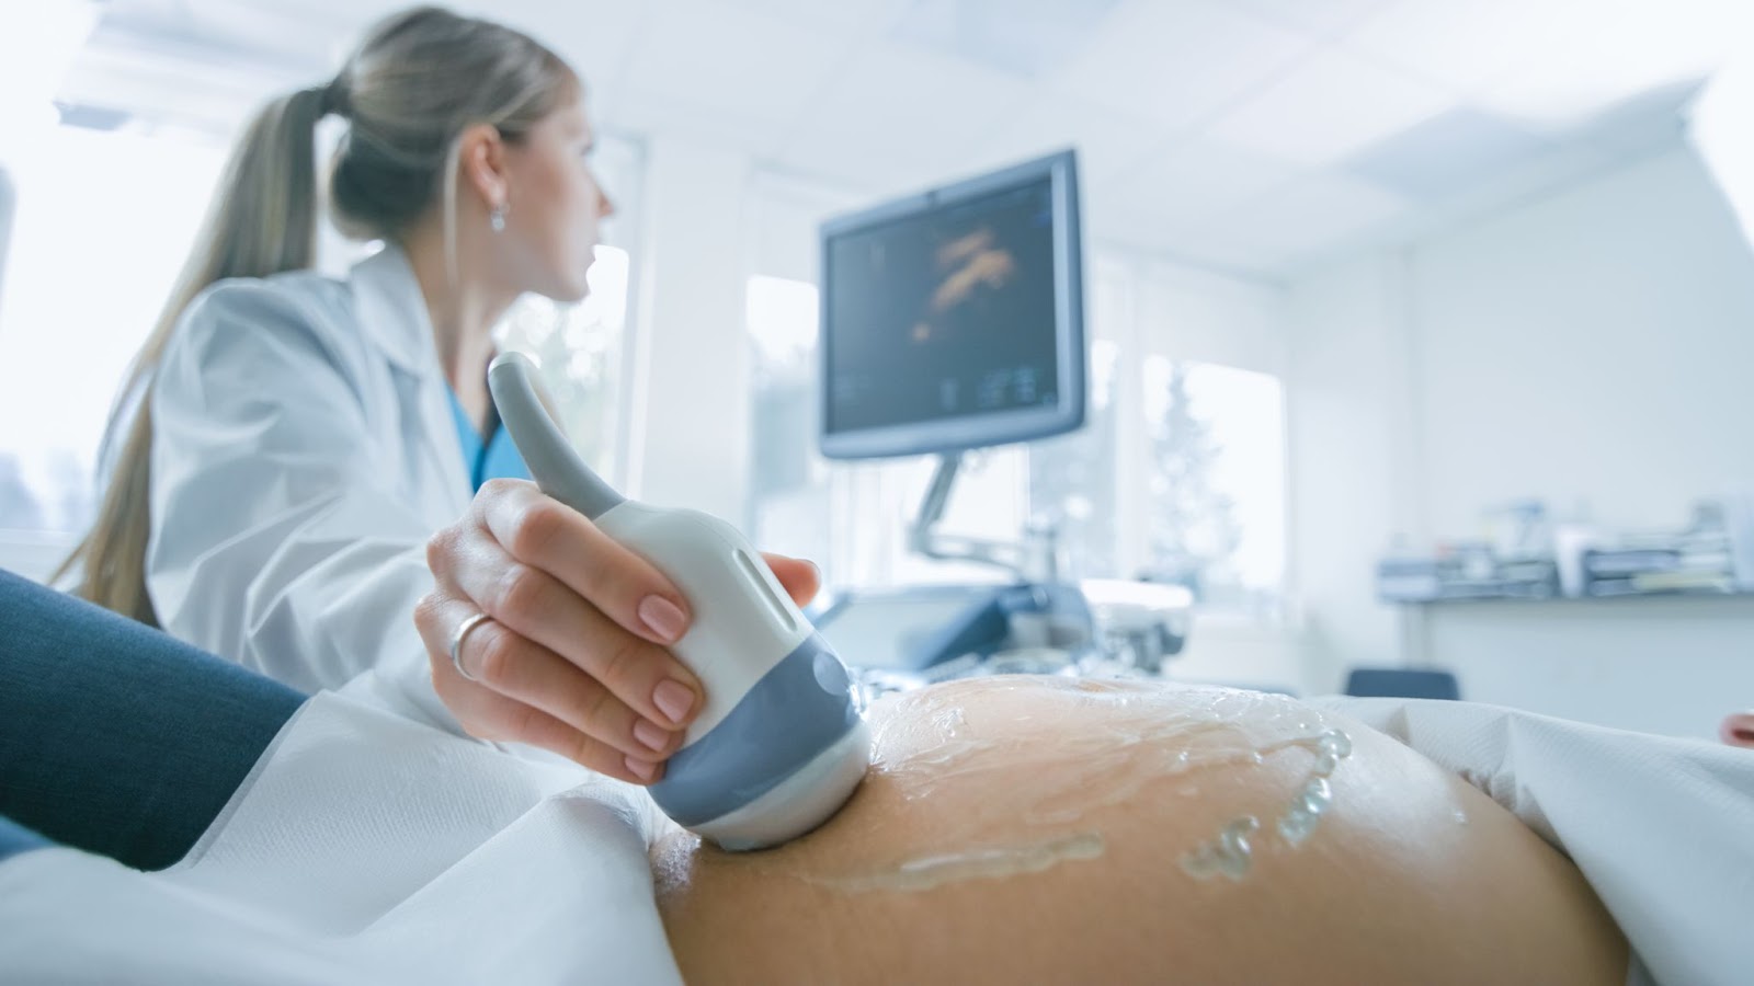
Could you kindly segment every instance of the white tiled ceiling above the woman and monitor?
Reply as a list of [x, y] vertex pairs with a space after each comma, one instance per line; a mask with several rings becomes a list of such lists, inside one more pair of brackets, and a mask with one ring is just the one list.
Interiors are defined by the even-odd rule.
[[[230, 132], [384, 0], [107, 0], [88, 121]], [[889, 195], [1075, 144], [1089, 235], [1279, 279], [1672, 147], [1747, 0], [500, 0], [600, 126]]]

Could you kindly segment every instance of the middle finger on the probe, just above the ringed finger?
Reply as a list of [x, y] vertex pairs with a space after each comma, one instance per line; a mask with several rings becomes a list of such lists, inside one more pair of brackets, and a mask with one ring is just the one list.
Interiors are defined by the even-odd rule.
[[670, 651], [628, 633], [554, 575], [517, 561], [488, 532], [463, 530], [453, 556], [460, 563], [440, 584], [567, 658], [656, 726], [686, 726], [700, 711], [700, 681]]

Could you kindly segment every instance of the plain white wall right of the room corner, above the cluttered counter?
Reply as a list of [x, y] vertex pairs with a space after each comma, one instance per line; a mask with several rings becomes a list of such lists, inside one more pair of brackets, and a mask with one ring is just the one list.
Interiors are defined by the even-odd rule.
[[1437, 530], [1528, 493], [1673, 525], [1754, 477], [1754, 258], [1689, 153], [1428, 244], [1414, 297]]

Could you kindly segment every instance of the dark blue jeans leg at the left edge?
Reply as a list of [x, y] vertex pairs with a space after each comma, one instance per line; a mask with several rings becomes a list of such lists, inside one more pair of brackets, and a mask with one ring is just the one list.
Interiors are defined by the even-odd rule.
[[0, 860], [181, 860], [305, 697], [0, 570]]

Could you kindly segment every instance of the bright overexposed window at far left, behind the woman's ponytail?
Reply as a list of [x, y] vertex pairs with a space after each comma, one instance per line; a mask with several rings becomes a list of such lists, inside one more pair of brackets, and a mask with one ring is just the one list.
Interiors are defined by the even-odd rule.
[[18, 214], [0, 295], [0, 528], [82, 530], [128, 360], [158, 319], [226, 149], [46, 128], [9, 158]]

